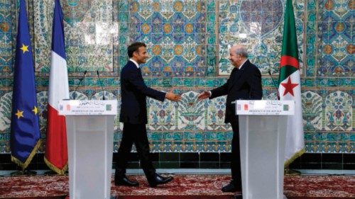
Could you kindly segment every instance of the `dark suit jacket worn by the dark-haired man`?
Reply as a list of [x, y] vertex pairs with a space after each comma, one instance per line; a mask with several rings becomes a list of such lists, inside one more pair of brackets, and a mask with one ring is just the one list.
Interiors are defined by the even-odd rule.
[[121, 70], [121, 123], [146, 124], [146, 96], [164, 101], [165, 93], [149, 88], [143, 81], [141, 69], [129, 61]]

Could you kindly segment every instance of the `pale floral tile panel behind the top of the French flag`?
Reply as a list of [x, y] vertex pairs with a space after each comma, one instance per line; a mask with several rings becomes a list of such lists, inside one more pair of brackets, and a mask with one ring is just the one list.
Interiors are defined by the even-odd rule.
[[[113, 1], [70, 0], [62, 4], [68, 72], [113, 71], [113, 40], [118, 23], [112, 18]], [[50, 69], [54, 1], [33, 0], [35, 71]]]

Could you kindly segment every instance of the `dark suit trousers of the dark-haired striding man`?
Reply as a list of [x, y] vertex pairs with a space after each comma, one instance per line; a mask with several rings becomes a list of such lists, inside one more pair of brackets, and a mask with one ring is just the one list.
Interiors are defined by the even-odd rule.
[[124, 176], [126, 174], [127, 162], [133, 144], [136, 146], [144, 174], [146, 174], [147, 178], [153, 178], [155, 169], [149, 158], [149, 142], [145, 124], [124, 123], [122, 140], [116, 158], [116, 175]]

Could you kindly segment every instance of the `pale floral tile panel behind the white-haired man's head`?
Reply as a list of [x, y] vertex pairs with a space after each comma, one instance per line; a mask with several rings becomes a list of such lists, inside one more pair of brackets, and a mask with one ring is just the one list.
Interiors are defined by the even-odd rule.
[[[263, 74], [278, 72], [283, 38], [284, 1], [217, 1], [219, 4], [219, 75], [231, 72], [229, 48], [242, 44], [249, 49], [249, 59]], [[295, 23], [302, 33], [305, 25], [305, 1], [295, 1]], [[302, 74], [305, 37], [297, 34]]]

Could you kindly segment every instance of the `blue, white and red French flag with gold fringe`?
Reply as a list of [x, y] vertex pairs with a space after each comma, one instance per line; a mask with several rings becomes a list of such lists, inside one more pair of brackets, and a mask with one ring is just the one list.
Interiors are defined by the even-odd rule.
[[50, 169], [58, 174], [64, 174], [67, 171], [67, 130], [65, 116], [58, 115], [58, 103], [69, 98], [69, 85], [63, 15], [59, 0], [55, 0], [54, 6], [51, 56], [44, 160]]

